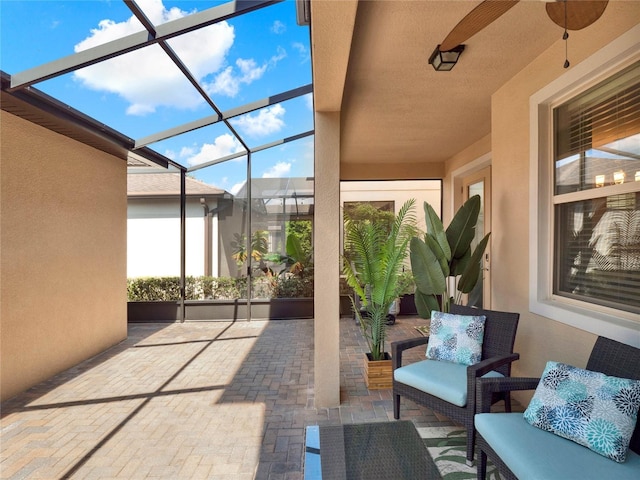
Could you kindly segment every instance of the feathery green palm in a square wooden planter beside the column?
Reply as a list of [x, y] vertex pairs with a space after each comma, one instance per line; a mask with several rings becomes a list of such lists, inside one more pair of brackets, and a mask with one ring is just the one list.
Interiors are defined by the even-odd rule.
[[391, 386], [391, 361], [384, 351], [387, 314], [399, 296], [400, 273], [409, 253], [409, 242], [416, 232], [414, 205], [414, 199], [405, 202], [390, 226], [353, 221], [345, 215], [345, 250], [351, 254], [344, 259], [343, 274], [364, 307], [361, 311], [354, 302], [353, 309], [369, 347], [365, 372], [373, 373], [369, 362], [388, 363], [386, 369], [383, 367], [385, 373], [376, 374], [388, 379], [372, 382], [367, 377], [369, 388]]

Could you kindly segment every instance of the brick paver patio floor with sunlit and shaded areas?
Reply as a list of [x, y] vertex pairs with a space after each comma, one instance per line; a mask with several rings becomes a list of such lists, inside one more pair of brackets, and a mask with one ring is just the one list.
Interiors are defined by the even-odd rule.
[[[390, 340], [423, 320], [400, 317]], [[313, 320], [133, 324], [121, 344], [1, 406], [3, 479], [302, 479], [307, 425], [393, 419], [340, 320], [341, 406], [313, 402]], [[412, 355], [422, 357], [421, 349]], [[402, 418], [450, 425], [408, 400]]]

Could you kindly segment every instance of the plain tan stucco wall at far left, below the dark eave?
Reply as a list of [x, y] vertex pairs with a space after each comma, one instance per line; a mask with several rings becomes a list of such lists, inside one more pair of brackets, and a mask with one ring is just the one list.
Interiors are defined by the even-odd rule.
[[1, 113], [5, 400], [127, 335], [126, 162]]

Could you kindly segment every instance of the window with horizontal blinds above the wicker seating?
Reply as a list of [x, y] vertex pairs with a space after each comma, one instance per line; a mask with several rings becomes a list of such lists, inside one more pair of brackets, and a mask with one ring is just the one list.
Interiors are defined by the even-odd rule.
[[553, 293], [640, 313], [640, 63], [554, 109]]

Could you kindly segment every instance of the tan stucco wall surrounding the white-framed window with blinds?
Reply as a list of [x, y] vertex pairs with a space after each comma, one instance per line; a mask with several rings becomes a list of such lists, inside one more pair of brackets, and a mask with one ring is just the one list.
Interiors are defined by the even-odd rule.
[[[593, 26], [572, 32], [572, 66], [638, 23], [640, 2], [610, 2]], [[562, 75], [564, 42], [505, 84], [492, 98], [492, 308], [521, 314], [514, 374], [540, 375], [547, 360], [586, 364], [595, 335], [529, 312], [529, 98]]]

